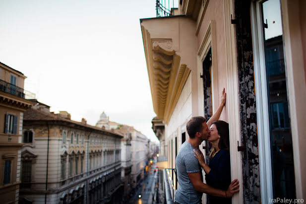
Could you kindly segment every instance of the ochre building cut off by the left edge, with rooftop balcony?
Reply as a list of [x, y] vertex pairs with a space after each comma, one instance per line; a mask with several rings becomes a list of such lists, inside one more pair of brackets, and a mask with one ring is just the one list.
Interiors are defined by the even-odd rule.
[[18, 203], [23, 113], [33, 103], [25, 99], [26, 76], [0, 63], [0, 198]]

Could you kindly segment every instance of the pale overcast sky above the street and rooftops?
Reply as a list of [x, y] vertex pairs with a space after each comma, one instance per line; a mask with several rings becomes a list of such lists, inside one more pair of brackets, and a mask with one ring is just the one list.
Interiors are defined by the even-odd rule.
[[133, 126], [158, 141], [140, 18], [155, 0], [0, 0], [0, 62], [51, 111]]

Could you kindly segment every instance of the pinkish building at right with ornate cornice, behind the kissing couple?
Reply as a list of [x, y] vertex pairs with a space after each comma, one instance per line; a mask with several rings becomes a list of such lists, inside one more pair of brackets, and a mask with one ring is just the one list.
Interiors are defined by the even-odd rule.
[[240, 180], [232, 202], [305, 199], [306, 1], [156, 2], [157, 17], [140, 24], [168, 168], [188, 138], [186, 122], [209, 119], [225, 87], [220, 119], [230, 125], [231, 176]]

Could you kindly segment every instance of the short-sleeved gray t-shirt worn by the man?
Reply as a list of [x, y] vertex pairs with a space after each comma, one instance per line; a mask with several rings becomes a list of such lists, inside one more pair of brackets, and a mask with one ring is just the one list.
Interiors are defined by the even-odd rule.
[[[179, 188], [175, 196], [175, 201], [180, 204], [199, 204], [201, 203], [203, 195], [203, 193], [195, 191], [188, 176], [188, 173], [200, 172], [201, 181], [203, 182], [201, 166], [194, 156], [193, 149], [195, 148], [189, 142], [185, 141], [176, 158]], [[195, 150], [199, 152], [198, 149]]]

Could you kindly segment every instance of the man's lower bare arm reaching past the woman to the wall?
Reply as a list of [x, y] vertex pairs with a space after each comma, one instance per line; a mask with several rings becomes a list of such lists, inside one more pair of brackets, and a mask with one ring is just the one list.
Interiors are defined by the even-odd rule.
[[189, 179], [190, 179], [194, 189], [198, 192], [209, 194], [211, 196], [219, 196], [219, 197], [225, 197], [225, 198], [230, 198], [235, 193], [239, 192], [239, 181], [237, 179], [235, 179], [230, 184], [227, 191], [223, 191], [223, 190], [215, 189], [211, 186], [208, 186], [207, 184], [204, 184], [201, 181], [200, 172], [188, 173], [188, 176], [189, 176]]

